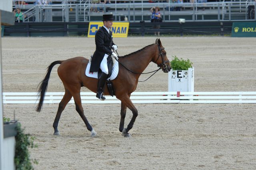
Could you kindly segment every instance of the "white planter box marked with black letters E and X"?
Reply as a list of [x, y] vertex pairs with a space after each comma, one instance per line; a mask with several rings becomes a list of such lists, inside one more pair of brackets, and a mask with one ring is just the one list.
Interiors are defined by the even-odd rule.
[[194, 92], [194, 67], [168, 73], [169, 92]]

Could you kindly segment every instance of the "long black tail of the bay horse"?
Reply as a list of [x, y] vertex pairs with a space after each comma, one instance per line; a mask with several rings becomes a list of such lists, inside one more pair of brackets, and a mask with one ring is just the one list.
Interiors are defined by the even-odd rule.
[[46, 72], [46, 75], [44, 77], [44, 80], [42, 80], [40, 82], [40, 84], [38, 85], [39, 87], [39, 90], [38, 90], [38, 97], [40, 96], [40, 100], [39, 100], [39, 103], [36, 107], [36, 111], [37, 112], [40, 112], [41, 111], [41, 108], [42, 108], [42, 105], [43, 105], [43, 102], [44, 102], [44, 96], [45, 96], [45, 92], [47, 90], [47, 86], [48, 86], [48, 81], [49, 81], [49, 78], [50, 78], [50, 74], [51, 74], [51, 71], [52, 71], [52, 68], [56, 65], [56, 64], [61, 64], [62, 61], [55, 61], [55, 62], [52, 62], [52, 64], [50, 64], [48, 66], [48, 70]]

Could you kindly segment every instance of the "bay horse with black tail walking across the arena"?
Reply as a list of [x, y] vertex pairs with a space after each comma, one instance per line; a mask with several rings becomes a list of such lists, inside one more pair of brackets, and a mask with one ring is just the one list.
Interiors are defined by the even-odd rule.
[[[91, 132], [91, 136], [96, 136], [95, 130], [89, 124], [86, 116], [84, 115], [84, 109], [82, 107], [80, 97], [80, 89], [83, 86], [92, 92], [96, 92], [97, 90], [98, 79], [90, 78], [85, 75], [85, 69], [88, 62], [89, 60], [84, 57], [75, 57], [63, 61], [54, 61], [48, 66], [48, 70], [44, 79], [38, 85], [38, 97], [40, 97], [40, 100], [36, 107], [36, 111], [40, 112], [42, 109], [51, 70], [56, 64], [60, 64], [57, 72], [58, 76], [63, 82], [65, 94], [59, 103], [58, 111], [53, 123], [54, 135], [60, 134], [58, 131], [58, 122], [60, 120], [61, 113], [73, 96], [76, 105], [76, 111], [84, 121], [86, 128]], [[154, 44], [145, 46], [136, 52], [132, 52], [128, 55], [119, 57], [118, 62], [119, 72], [117, 77], [112, 80], [112, 86], [114, 88], [114, 94], [116, 95], [116, 98], [121, 100], [121, 120], [119, 131], [122, 132], [122, 136], [131, 137], [128, 132], [130, 129], [132, 129], [136, 117], [138, 116], [138, 110], [130, 100], [130, 96], [131, 93], [136, 90], [140, 73], [146, 69], [150, 62], [156, 63], [158, 67], [160, 67], [165, 73], [168, 73], [171, 70], [171, 66], [160, 39], [156, 39]], [[109, 95], [107, 86], [104, 88], [105, 95]], [[127, 128], [124, 128], [126, 108], [129, 108], [132, 111], [133, 116]]]

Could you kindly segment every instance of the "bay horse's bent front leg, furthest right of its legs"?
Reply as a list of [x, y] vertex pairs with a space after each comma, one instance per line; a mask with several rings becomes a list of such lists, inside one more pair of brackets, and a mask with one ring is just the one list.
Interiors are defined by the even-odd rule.
[[134, 124], [134, 122], [136, 120], [136, 117], [138, 116], [138, 110], [135, 108], [135, 106], [132, 103], [132, 100], [130, 100], [129, 97], [124, 98], [121, 101], [122, 101], [123, 104], [125, 104], [132, 111], [132, 119], [131, 119], [130, 123], [128, 124], [127, 128], [123, 129], [122, 135], [124, 137], [131, 137], [131, 135], [128, 132], [133, 127], [133, 124]]

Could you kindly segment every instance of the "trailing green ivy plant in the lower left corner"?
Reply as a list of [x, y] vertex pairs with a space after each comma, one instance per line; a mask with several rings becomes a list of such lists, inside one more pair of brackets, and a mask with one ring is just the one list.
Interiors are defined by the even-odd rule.
[[[28, 148], [37, 147], [34, 145], [34, 137], [30, 134], [24, 134], [24, 129], [21, 128], [21, 125], [18, 124], [16, 127], [17, 135], [16, 146], [15, 146], [15, 158], [14, 162], [16, 165], [16, 170], [33, 170], [32, 160], [30, 159], [30, 153]], [[33, 160], [34, 164], [38, 164], [36, 160]]]

